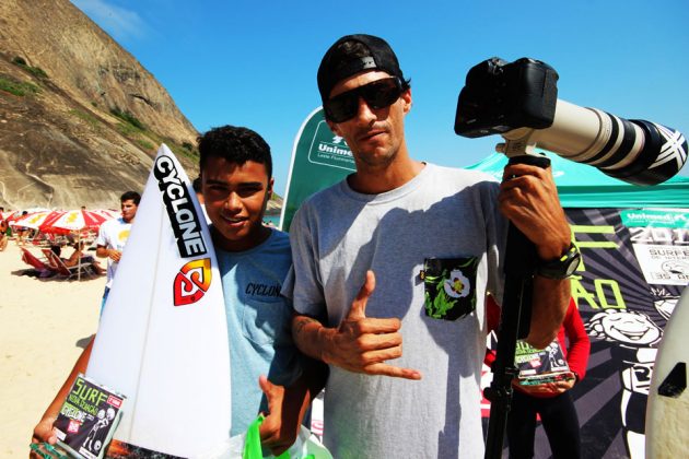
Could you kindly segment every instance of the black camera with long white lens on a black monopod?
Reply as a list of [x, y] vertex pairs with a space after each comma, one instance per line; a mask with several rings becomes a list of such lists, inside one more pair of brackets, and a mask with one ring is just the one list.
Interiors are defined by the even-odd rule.
[[[677, 130], [644, 120], [627, 120], [597, 108], [558, 99], [558, 73], [550, 66], [522, 58], [488, 59], [472, 67], [459, 93], [455, 132], [478, 138], [498, 133], [509, 164], [548, 167], [536, 148], [585, 163], [635, 185], [656, 185], [681, 169], [687, 141]], [[510, 224], [504, 263], [505, 285], [493, 380], [484, 396], [491, 402], [486, 458], [501, 458], [512, 400], [516, 341], [528, 336], [535, 245]]]

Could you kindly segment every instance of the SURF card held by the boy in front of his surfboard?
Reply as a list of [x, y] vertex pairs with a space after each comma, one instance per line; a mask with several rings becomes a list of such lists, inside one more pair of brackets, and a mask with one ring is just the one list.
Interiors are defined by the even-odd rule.
[[121, 395], [80, 374], [54, 424], [58, 444], [75, 458], [102, 458], [124, 401]]

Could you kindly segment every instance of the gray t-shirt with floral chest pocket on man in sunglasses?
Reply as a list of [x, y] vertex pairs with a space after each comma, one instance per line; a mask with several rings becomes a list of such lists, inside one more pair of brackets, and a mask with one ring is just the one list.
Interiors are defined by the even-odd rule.
[[[388, 363], [423, 375], [417, 381], [331, 366], [324, 433], [335, 457], [483, 456], [483, 297], [489, 290], [502, 299], [507, 228], [497, 197], [498, 184], [488, 175], [428, 164], [393, 191], [361, 195], [344, 180], [296, 212], [293, 271], [283, 287], [294, 308], [337, 326], [373, 270], [366, 316], [402, 323], [404, 355]], [[436, 266], [424, 263], [432, 258], [452, 264], [444, 280], [424, 270]], [[445, 299], [453, 298], [475, 310], [449, 320]]]

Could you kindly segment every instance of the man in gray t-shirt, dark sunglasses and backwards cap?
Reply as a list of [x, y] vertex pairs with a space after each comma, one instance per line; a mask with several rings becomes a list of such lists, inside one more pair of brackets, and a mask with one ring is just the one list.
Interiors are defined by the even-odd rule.
[[[339, 39], [318, 89], [357, 172], [296, 212], [283, 293], [297, 346], [330, 365], [326, 446], [337, 458], [482, 457], [483, 298], [502, 298], [507, 219], [541, 260], [570, 247], [550, 170], [510, 166], [518, 177], [499, 185], [412, 160], [409, 82], [381, 38]], [[569, 282], [537, 275], [534, 286], [528, 340], [546, 345]]]

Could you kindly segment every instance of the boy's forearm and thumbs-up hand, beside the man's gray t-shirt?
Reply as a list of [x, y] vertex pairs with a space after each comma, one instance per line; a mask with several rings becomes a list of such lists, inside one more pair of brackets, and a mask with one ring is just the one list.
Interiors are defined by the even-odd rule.
[[259, 378], [270, 411], [260, 425], [260, 439], [275, 456], [294, 444], [306, 410], [325, 387], [327, 378], [328, 366], [307, 357], [303, 358], [302, 375], [288, 388], [273, 385], [266, 376]]

